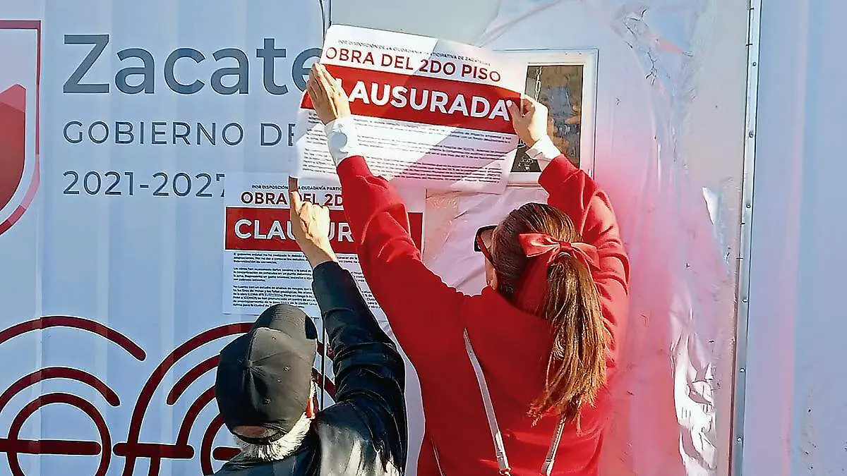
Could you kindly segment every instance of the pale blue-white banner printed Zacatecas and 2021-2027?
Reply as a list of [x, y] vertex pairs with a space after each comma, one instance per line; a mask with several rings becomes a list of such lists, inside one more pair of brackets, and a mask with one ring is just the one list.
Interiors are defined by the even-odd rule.
[[221, 312], [224, 180], [290, 173], [323, 31], [318, 2], [0, 0], [0, 474], [237, 453], [214, 369], [256, 317]]

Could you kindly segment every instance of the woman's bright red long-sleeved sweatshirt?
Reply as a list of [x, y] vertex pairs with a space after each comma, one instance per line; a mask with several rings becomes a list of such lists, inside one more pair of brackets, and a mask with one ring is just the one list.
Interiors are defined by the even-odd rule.
[[[533, 426], [527, 412], [544, 385], [551, 325], [513, 307], [490, 288], [481, 296], [467, 296], [429, 271], [409, 235], [401, 197], [385, 179], [370, 172], [364, 158], [346, 158], [338, 175], [365, 279], [420, 379], [426, 431], [418, 474], [498, 473], [483, 397], [465, 348], [467, 329], [512, 474], [538, 475], [558, 415], [547, 415]], [[600, 270], [594, 279], [608, 330], [606, 366], [611, 381], [627, 313], [629, 278], [612, 206], [594, 180], [561, 155], [547, 165], [539, 183], [550, 194], [548, 202], [567, 213], [584, 241], [599, 252]], [[468, 252], [471, 249], [468, 243]], [[551, 474], [597, 474], [610, 406], [606, 387], [594, 407], [582, 410], [579, 433], [575, 424], [565, 426]]]

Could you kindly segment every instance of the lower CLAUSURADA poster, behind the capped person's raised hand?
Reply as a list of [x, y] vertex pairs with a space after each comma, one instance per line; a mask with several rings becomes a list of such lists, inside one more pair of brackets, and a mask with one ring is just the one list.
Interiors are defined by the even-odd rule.
[[[291, 233], [288, 176], [230, 174], [226, 180], [224, 238], [224, 313], [259, 314], [279, 302], [302, 307], [320, 317], [312, 292], [312, 267]], [[386, 327], [385, 316], [368, 290], [356, 246], [344, 214], [340, 185], [298, 185], [303, 201], [329, 208], [329, 241], [339, 263], [353, 274], [371, 307]], [[407, 199], [412, 239], [422, 246], [424, 191]]]

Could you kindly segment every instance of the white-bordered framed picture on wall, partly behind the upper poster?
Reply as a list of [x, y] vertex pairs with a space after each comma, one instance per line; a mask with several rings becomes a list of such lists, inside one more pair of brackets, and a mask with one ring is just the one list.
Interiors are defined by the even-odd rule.
[[[597, 51], [544, 49], [502, 50], [526, 71], [523, 93], [550, 111], [548, 133], [574, 165], [591, 174], [594, 169]], [[510, 185], [537, 185], [538, 162], [518, 144]]]

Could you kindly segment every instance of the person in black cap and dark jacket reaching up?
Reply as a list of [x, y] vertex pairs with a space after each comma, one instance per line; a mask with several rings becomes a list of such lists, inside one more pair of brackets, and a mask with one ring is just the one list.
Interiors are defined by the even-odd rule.
[[[294, 190], [294, 187], [292, 187]], [[402, 474], [405, 368], [329, 245], [329, 211], [291, 192], [291, 229], [335, 352], [335, 405], [316, 412], [318, 332], [298, 307], [269, 307], [220, 353], [215, 398], [241, 453], [215, 474]]]

